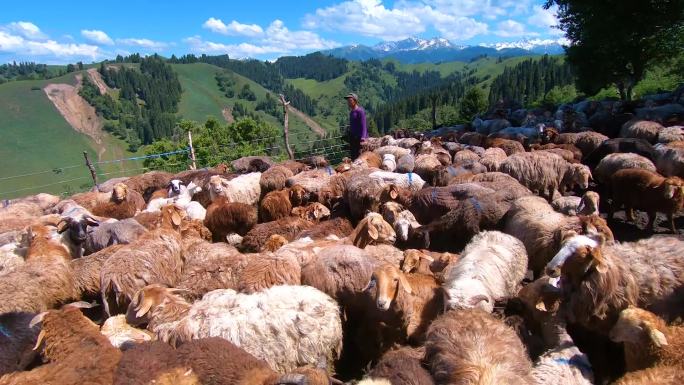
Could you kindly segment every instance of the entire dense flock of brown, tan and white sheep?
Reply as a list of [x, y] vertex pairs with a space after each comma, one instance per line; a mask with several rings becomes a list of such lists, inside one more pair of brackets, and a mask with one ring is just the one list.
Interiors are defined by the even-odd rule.
[[682, 384], [684, 112], [648, 103], [6, 201], [0, 385]]

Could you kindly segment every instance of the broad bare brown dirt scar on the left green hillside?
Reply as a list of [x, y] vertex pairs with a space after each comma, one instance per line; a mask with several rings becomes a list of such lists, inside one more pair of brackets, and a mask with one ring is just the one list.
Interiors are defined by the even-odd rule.
[[102, 121], [95, 113], [95, 108], [78, 94], [81, 89], [81, 82], [81, 75], [76, 75], [75, 86], [71, 84], [48, 84], [43, 90], [64, 117], [64, 120], [74, 130], [87, 135], [95, 142], [98, 159], [101, 159], [106, 151], [102, 140]]

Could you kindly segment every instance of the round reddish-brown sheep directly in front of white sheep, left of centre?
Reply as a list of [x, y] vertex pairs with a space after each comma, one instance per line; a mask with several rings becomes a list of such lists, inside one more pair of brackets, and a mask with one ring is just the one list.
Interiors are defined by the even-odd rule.
[[254, 207], [218, 197], [207, 208], [204, 225], [211, 231], [214, 241], [221, 242], [231, 233], [246, 235], [256, 225], [257, 217]]

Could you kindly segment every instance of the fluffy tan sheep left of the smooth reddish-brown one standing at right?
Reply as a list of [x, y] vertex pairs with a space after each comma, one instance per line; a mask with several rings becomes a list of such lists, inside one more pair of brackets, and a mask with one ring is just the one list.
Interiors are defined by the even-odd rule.
[[563, 193], [575, 184], [582, 189], [588, 188], [591, 178], [587, 166], [568, 163], [556, 154], [539, 152], [511, 155], [501, 163], [500, 170], [549, 201], [556, 191]]

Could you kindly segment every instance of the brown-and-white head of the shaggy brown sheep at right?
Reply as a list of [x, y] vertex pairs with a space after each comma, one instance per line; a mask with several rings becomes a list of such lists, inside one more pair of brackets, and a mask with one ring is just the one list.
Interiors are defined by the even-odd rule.
[[562, 277], [564, 285], [569, 283], [576, 287], [591, 269], [605, 273], [606, 260], [601, 252], [604, 244], [604, 235], [595, 228], [589, 229], [589, 235], [568, 231], [561, 249], [546, 265], [546, 274], [552, 278]]

